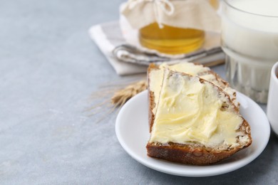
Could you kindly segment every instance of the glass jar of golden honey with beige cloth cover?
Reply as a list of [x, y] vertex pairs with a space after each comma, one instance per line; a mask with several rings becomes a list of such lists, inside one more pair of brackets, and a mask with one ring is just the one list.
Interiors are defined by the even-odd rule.
[[205, 28], [217, 20], [219, 4], [218, 0], [133, 0], [128, 5], [123, 14], [138, 28], [140, 45], [175, 55], [202, 47]]

